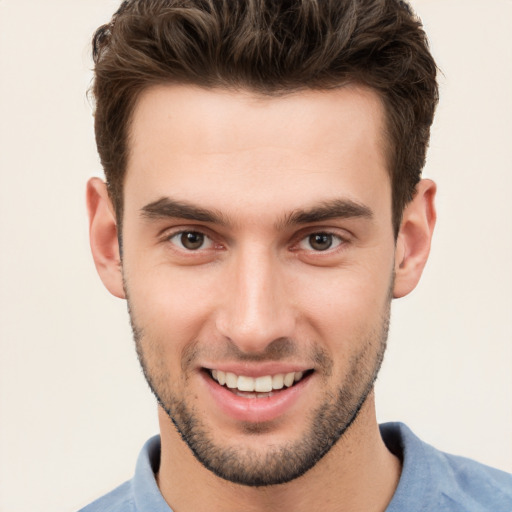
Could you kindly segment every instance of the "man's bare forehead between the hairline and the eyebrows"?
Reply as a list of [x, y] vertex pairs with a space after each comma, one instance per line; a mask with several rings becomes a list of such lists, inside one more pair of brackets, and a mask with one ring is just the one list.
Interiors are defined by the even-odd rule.
[[262, 97], [155, 86], [132, 118], [125, 207], [165, 196], [226, 215], [277, 205], [282, 215], [333, 196], [386, 206], [384, 126], [379, 96], [363, 87]]

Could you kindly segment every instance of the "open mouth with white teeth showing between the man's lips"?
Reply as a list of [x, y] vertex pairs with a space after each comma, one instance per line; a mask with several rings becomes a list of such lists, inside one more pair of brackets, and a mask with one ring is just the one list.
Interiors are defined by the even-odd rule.
[[220, 386], [243, 398], [269, 398], [281, 391], [297, 385], [313, 373], [313, 370], [277, 373], [250, 377], [236, 375], [217, 369], [205, 369], [209, 377]]

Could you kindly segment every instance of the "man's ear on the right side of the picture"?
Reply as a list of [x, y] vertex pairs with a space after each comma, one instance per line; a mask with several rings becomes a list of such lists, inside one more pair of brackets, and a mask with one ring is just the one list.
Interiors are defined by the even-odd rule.
[[410, 293], [420, 280], [436, 223], [435, 195], [436, 184], [421, 180], [404, 209], [396, 242], [394, 298]]

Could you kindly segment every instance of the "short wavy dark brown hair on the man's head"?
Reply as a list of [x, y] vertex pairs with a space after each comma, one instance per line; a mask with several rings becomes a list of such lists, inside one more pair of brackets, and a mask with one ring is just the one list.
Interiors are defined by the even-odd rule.
[[412, 199], [438, 101], [421, 22], [398, 0], [126, 0], [93, 39], [98, 152], [119, 222], [130, 119], [151, 85], [281, 95], [349, 82], [386, 109], [393, 227]]

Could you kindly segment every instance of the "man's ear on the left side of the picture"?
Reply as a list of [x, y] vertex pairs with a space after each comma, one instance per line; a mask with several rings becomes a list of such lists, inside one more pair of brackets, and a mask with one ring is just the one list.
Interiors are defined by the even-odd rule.
[[106, 184], [99, 178], [87, 182], [89, 239], [96, 270], [108, 291], [125, 298], [117, 222]]

